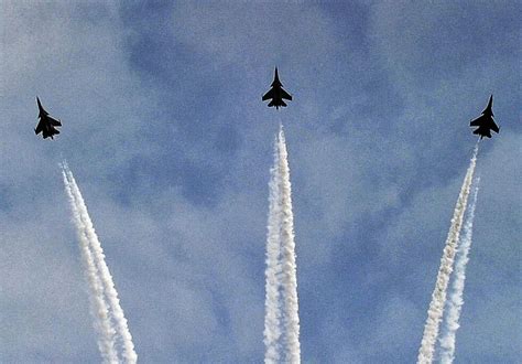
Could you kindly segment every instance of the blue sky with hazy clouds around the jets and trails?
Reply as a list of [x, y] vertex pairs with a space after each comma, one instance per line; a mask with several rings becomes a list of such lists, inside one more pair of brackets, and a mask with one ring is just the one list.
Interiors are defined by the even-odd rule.
[[[293, 183], [304, 362], [416, 358], [481, 142], [459, 362], [521, 357], [520, 4], [0, 4], [0, 361], [97, 362], [57, 163], [143, 362], [262, 362], [272, 142]], [[280, 68], [291, 105], [261, 103]], [[63, 120], [34, 136], [39, 95]]]

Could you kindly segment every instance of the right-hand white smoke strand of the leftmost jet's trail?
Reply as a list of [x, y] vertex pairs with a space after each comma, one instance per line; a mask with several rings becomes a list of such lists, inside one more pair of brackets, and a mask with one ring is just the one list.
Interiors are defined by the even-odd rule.
[[109, 268], [105, 261], [104, 249], [101, 244], [96, 235], [96, 231], [93, 226], [87, 206], [85, 204], [84, 197], [76, 184], [73, 173], [64, 163], [64, 171], [66, 173], [70, 191], [76, 202], [76, 208], [79, 213], [80, 220], [84, 224], [84, 232], [88, 239], [89, 247], [93, 251], [94, 261], [98, 269], [99, 278], [104, 286], [104, 291], [107, 298], [107, 301], [110, 306], [110, 313], [112, 319], [116, 322], [116, 332], [119, 335], [119, 339], [123, 345], [123, 358], [127, 363], [135, 363], [138, 361], [138, 355], [134, 351], [134, 344], [132, 343], [132, 335], [129, 331], [127, 319], [124, 317], [123, 310], [120, 306], [120, 300], [118, 298], [118, 292], [115, 288], [115, 282], [112, 276], [110, 275]]

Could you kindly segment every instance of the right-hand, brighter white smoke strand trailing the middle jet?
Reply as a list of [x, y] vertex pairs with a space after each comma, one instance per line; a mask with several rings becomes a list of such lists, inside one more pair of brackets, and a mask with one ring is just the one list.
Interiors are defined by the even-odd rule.
[[281, 258], [283, 330], [286, 345], [285, 361], [301, 363], [300, 315], [297, 302], [297, 275], [295, 263], [294, 215], [292, 213], [292, 189], [290, 183], [289, 154], [283, 127], [279, 131], [279, 168], [281, 179]]

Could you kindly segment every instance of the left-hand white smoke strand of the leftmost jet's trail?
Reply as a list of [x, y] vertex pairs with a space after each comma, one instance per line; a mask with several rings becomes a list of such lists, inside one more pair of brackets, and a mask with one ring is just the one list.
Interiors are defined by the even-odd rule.
[[90, 314], [95, 322], [95, 329], [98, 332], [98, 349], [105, 363], [118, 363], [118, 353], [115, 349], [115, 329], [110, 322], [109, 308], [104, 298], [104, 287], [98, 277], [98, 269], [93, 259], [89, 248], [89, 240], [85, 234], [85, 225], [79, 216], [76, 201], [70, 190], [65, 171], [62, 171], [64, 178], [65, 191], [70, 203], [74, 224], [76, 225], [79, 248], [81, 253], [81, 263], [85, 269], [85, 276], [89, 286]]

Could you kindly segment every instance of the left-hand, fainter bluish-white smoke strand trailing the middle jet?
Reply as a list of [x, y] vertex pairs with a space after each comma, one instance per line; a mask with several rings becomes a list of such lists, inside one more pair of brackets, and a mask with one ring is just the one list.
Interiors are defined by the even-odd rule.
[[267, 270], [264, 300], [264, 363], [279, 363], [281, 355], [281, 203], [280, 203], [280, 158], [279, 143], [274, 142], [274, 165], [271, 179], [269, 222], [267, 233]]

